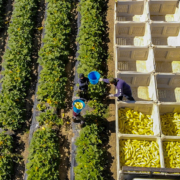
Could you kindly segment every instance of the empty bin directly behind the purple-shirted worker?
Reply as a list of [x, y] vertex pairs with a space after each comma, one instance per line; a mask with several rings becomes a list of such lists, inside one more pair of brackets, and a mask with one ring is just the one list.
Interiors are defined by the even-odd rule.
[[118, 73], [117, 77], [131, 86], [132, 95], [136, 101], [156, 101], [154, 76], [147, 73]]

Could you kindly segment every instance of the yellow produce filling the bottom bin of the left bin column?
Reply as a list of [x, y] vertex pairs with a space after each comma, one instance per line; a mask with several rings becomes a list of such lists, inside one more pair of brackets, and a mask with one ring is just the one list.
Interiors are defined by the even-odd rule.
[[135, 167], [160, 167], [159, 146], [155, 141], [120, 140], [120, 164]]

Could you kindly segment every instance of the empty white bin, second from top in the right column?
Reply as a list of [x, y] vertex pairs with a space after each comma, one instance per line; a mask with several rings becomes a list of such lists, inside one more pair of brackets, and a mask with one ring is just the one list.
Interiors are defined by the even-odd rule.
[[151, 23], [152, 44], [160, 46], [180, 46], [180, 22]]

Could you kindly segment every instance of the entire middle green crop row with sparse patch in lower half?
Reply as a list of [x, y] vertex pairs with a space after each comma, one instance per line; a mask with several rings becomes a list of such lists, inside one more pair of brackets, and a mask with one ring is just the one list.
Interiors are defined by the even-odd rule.
[[[59, 177], [59, 138], [54, 126], [62, 124], [57, 109], [65, 104], [65, 65], [68, 62], [71, 33], [71, 0], [47, 0], [45, 36], [39, 52], [42, 67], [36, 98], [40, 128], [34, 132], [28, 157], [28, 180]], [[56, 128], [57, 129], [57, 128]]]

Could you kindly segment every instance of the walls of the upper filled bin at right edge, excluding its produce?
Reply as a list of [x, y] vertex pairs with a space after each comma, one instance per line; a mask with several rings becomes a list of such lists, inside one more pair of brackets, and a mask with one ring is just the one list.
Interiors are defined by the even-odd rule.
[[[159, 106], [159, 114], [160, 115], [163, 115], [163, 114], [167, 114], [167, 113], [180, 113], [180, 103], [179, 104], [173, 104], [173, 103], [168, 103], [168, 104], [164, 104], [164, 103], [161, 103], [158, 105]], [[160, 117], [159, 115], [159, 117]], [[169, 126], [171, 126], [171, 124], [169, 124]], [[163, 136], [166, 136], [166, 137], [169, 137], [169, 138], [179, 138], [180, 139], [180, 136], [167, 136], [167, 135], [164, 135], [163, 134], [163, 129], [162, 129], [162, 126], [161, 126], [161, 118], [160, 118], [160, 127], [161, 127], [161, 137]]]

